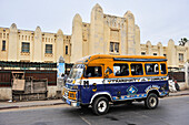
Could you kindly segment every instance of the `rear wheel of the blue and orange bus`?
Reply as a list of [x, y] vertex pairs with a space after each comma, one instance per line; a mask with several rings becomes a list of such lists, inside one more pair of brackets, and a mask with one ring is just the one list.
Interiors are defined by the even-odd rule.
[[158, 106], [159, 100], [157, 94], [150, 93], [147, 98], [145, 100], [145, 106], [148, 110], [153, 110]]

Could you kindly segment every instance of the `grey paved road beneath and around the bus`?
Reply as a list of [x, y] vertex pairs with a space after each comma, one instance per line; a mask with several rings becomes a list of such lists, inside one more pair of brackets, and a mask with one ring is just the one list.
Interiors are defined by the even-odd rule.
[[167, 97], [156, 110], [143, 103], [119, 105], [107, 115], [96, 116], [91, 108], [68, 105], [8, 110], [0, 112], [0, 125], [189, 125], [189, 96]]

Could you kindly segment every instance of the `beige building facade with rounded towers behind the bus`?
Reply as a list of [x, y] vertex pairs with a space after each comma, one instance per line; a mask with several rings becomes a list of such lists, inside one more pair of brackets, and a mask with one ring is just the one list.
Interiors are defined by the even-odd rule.
[[72, 34], [66, 35], [42, 32], [40, 27], [34, 31], [20, 30], [16, 23], [10, 28], [0, 28], [0, 61], [17, 62], [57, 62], [60, 56], [66, 63], [73, 63], [91, 54], [115, 55], [165, 55], [168, 65], [182, 67], [189, 59], [189, 44], [175, 45], [173, 40], [163, 46], [161, 42], [152, 45], [150, 41], [140, 44], [140, 28], [135, 15], [128, 11], [122, 17], [103, 13], [96, 4], [91, 10], [90, 23], [76, 14], [72, 20]]

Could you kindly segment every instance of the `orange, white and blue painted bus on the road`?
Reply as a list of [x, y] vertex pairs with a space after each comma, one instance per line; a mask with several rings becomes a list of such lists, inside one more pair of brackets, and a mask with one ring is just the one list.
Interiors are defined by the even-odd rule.
[[169, 94], [167, 59], [147, 55], [96, 54], [82, 58], [72, 66], [62, 91], [71, 106], [91, 106], [97, 115], [110, 104], [145, 102], [153, 110], [159, 97]]

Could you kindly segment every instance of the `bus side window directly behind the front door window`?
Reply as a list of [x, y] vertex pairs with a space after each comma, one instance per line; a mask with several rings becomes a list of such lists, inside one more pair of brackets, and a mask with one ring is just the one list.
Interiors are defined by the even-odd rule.
[[126, 76], [129, 75], [128, 64], [113, 64], [115, 76]]

